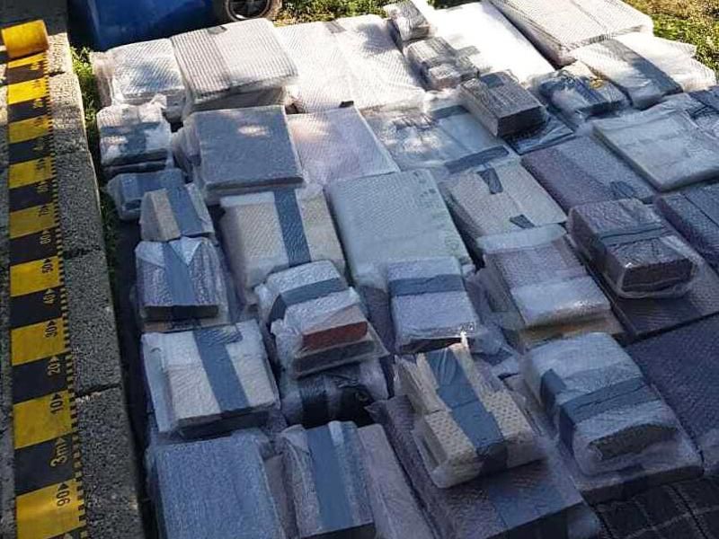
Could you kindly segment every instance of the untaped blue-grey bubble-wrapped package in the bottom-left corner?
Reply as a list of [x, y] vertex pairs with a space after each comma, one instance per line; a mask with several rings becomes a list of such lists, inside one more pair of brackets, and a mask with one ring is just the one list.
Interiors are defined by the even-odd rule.
[[[158, 447], [153, 482], [167, 539], [285, 539], [261, 449], [252, 436]], [[201, 464], [201, 465], [199, 465]]]

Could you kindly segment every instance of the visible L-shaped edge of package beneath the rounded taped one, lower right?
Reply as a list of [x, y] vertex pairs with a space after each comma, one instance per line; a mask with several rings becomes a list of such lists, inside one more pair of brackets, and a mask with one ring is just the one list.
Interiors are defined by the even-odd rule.
[[[522, 408], [528, 414], [532, 424], [542, 437], [557, 437], [553, 420], [525, 384], [522, 376], [511, 376], [504, 383], [515, 394], [519, 394]], [[556, 449], [562, 456], [574, 485], [587, 503], [597, 504], [610, 499], [626, 499], [655, 485], [693, 479], [701, 475], [702, 463], [697, 449], [683, 429], [678, 428], [677, 435], [669, 444], [661, 444], [661, 455], [644, 457], [643, 462], [617, 472], [605, 472], [588, 475], [583, 473], [570, 450], [561, 441], [556, 441]]]

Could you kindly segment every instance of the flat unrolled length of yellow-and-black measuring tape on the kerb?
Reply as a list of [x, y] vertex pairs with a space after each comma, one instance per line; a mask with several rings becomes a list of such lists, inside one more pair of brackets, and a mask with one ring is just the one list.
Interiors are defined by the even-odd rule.
[[87, 537], [48, 57], [7, 64], [10, 346], [18, 539]]

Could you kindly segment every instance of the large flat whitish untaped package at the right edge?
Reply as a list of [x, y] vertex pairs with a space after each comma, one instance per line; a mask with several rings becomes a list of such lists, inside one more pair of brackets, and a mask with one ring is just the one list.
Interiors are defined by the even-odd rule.
[[657, 190], [719, 175], [719, 138], [698, 129], [684, 112], [645, 110], [599, 120], [594, 131]]

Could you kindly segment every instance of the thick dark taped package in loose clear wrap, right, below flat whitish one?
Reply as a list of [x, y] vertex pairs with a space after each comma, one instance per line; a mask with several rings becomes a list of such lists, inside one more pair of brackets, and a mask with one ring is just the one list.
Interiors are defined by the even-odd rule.
[[683, 296], [699, 273], [697, 253], [639, 200], [572, 208], [568, 229], [618, 296]]

